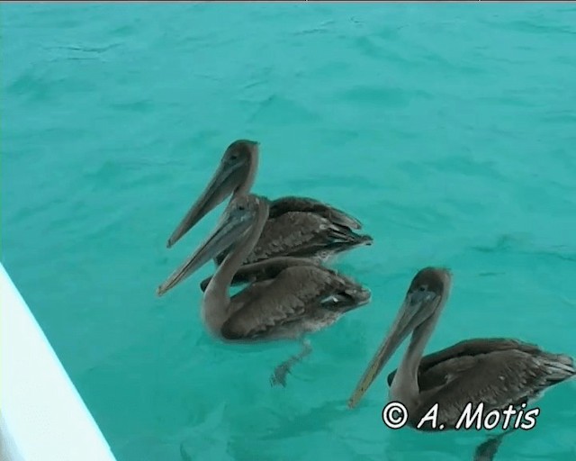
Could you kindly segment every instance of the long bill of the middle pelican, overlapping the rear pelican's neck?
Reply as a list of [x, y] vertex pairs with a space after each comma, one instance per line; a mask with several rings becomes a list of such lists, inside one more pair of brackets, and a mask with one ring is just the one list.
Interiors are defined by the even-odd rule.
[[229, 249], [239, 238], [241, 238], [250, 228], [253, 221], [248, 212], [225, 212], [220, 219], [216, 229], [210, 236], [193, 252], [193, 255], [186, 259], [166, 281], [157, 288], [157, 295], [162, 296], [175, 285], [191, 276], [196, 270], [210, 261], [214, 256]]

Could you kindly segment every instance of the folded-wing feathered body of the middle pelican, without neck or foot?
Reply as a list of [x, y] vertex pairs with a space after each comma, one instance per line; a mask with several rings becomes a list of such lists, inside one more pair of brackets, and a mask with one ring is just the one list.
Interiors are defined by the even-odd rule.
[[229, 318], [220, 330], [225, 339], [300, 338], [370, 299], [361, 285], [313, 262], [294, 259], [290, 265], [284, 258], [259, 264], [259, 277], [230, 299]]

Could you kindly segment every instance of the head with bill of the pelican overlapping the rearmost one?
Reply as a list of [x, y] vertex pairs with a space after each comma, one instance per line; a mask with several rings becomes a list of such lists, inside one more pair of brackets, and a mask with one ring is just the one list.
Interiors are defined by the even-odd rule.
[[216, 229], [202, 244], [193, 252], [193, 255], [178, 267], [162, 285], [157, 288], [157, 295], [161, 296], [191, 276], [196, 270], [206, 264], [215, 255], [232, 247], [236, 242], [242, 240], [247, 232], [257, 222], [260, 213], [265, 212], [266, 216], [270, 204], [265, 197], [247, 194], [238, 195], [229, 203], [226, 211], [220, 218]]

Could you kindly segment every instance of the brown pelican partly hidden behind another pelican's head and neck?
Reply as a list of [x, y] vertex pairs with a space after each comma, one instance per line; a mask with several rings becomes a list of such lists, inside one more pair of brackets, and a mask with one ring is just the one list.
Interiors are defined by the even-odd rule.
[[[229, 194], [232, 197], [247, 194], [254, 184], [257, 167], [257, 141], [232, 142], [209, 185], [178, 224], [166, 247], [172, 247]], [[326, 260], [337, 253], [372, 244], [372, 237], [354, 232], [361, 227], [355, 218], [326, 203], [307, 197], [283, 197], [270, 204], [262, 235], [243, 263], [277, 256]], [[224, 260], [228, 250], [216, 255], [217, 265]]]

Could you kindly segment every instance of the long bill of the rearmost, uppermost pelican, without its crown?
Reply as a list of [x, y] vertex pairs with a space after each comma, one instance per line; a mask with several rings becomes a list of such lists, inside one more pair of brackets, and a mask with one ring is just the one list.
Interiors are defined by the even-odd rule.
[[210, 183], [206, 186], [202, 195], [198, 197], [195, 203], [184, 219], [178, 224], [178, 227], [172, 232], [172, 235], [166, 242], [166, 247], [172, 247], [176, 241], [180, 240], [184, 234], [193, 228], [193, 226], [202, 218], [216, 208], [220, 203], [226, 200], [229, 194], [240, 185], [243, 178], [247, 175], [247, 164], [244, 162], [220, 162], [220, 167], [211, 177]]

